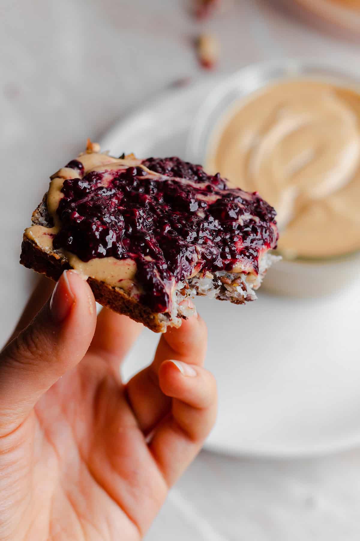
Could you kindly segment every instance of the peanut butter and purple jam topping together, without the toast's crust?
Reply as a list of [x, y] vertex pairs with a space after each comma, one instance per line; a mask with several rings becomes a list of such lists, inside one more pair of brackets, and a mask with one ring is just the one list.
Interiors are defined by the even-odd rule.
[[32, 243], [157, 313], [197, 274], [243, 273], [256, 289], [278, 236], [275, 210], [220, 175], [178, 157], [117, 159], [92, 143], [51, 177], [46, 209], [25, 230]]

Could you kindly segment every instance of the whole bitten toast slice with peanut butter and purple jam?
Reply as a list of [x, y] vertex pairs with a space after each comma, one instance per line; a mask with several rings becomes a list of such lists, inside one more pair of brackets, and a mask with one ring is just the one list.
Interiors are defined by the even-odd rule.
[[[106, 201], [102, 210], [99, 201]], [[223, 201], [230, 201], [229, 216]], [[236, 304], [256, 298], [254, 290], [275, 258], [268, 252], [276, 247], [274, 216], [257, 194], [228, 189], [219, 175], [208, 176], [200, 166], [175, 158], [115, 159], [89, 143], [86, 153], [51, 177], [49, 191], [32, 214], [32, 226], [25, 230], [20, 262], [52, 280], [74, 268], [86, 275], [101, 305], [154, 332], [165, 332], [194, 312], [188, 296], [208, 295]], [[185, 228], [185, 234], [181, 230], [176, 236], [176, 227]], [[227, 233], [234, 228], [232, 236]], [[85, 238], [85, 233], [90, 236]], [[97, 241], [101, 235], [103, 240]], [[131, 268], [120, 275], [124, 262]], [[110, 266], [115, 274], [104, 274]]]

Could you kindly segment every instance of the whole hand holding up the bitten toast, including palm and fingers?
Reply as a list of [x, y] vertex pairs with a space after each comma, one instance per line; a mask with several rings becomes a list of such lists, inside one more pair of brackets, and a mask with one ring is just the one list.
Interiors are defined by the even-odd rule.
[[205, 324], [169, 329], [124, 385], [142, 326], [105, 308], [97, 318], [78, 274], [22, 330], [49, 283], [0, 355], [0, 540], [141, 539], [214, 423]]

